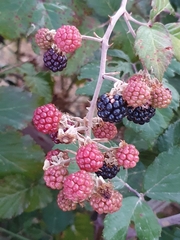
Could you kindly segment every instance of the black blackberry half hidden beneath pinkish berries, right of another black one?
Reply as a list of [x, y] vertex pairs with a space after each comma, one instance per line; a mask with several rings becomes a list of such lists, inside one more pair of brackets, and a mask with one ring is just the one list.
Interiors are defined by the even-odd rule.
[[133, 121], [134, 123], [143, 125], [150, 121], [150, 119], [155, 115], [156, 109], [150, 105], [145, 105], [137, 108], [128, 107], [127, 109], [127, 119]]

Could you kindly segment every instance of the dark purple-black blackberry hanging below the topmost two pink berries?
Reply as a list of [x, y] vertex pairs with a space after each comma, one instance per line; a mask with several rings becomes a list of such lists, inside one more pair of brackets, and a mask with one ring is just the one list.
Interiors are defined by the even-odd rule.
[[67, 58], [62, 53], [56, 52], [53, 48], [44, 53], [44, 65], [53, 72], [62, 71], [67, 65]]

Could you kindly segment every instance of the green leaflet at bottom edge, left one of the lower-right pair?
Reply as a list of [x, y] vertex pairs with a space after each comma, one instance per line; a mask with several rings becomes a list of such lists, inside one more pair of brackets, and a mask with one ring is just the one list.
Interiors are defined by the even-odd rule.
[[126, 239], [127, 230], [138, 202], [137, 197], [124, 198], [119, 211], [106, 215], [103, 231], [105, 240]]

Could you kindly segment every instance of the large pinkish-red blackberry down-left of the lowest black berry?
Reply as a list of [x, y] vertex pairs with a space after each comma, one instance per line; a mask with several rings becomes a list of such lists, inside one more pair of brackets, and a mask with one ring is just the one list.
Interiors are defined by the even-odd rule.
[[73, 202], [83, 202], [88, 199], [94, 188], [94, 180], [90, 173], [80, 170], [71, 173], [64, 181], [64, 195]]

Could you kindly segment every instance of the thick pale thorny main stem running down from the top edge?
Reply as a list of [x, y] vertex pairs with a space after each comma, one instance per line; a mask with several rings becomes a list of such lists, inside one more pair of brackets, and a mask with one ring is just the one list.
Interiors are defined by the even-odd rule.
[[103, 76], [105, 74], [106, 70], [106, 59], [107, 59], [107, 51], [109, 48], [109, 38], [111, 36], [111, 33], [114, 29], [114, 26], [118, 19], [126, 12], [126, 5], [127, 5], [127, 0], [122, 0], [121, 6], [118, 9], [118, 11], [110, 17], [110, 22], [107, 27], [107, 30], [102, 38], [102, 49], [101, 49], [101, 60], [100, 60], [100, 71], [99, 71], [99, 76], [96, 84], [96, 89], [91, 101], [91, 105], [89, 107], [89, 111], [86, 115], [87, 120], [88, 120], [88, 129], [86, 131], [87, 136], [91, 136], [91, 127], [92, 127], [92, 119], [94, 116], [95, 108], [96, 108], [96, 102], [99, 96], [99, 92], [101, 90], [101, 86], [103, 83]]

